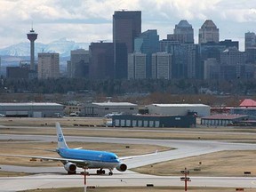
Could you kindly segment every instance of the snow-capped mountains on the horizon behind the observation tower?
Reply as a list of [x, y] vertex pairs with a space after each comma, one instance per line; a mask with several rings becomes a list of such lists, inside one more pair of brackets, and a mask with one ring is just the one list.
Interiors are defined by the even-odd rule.
[[[74, 41], [68, 41], [66, 38], [61, 38], [50, 44], [35, 43], [35, 56], [37, 56], [38, 52], [57, 52], [60, 53], [60, 57], [68, 57], [70, 56], [71, 50], [88, 49], [88, 46], [89, 44], [86, 43], [76, 43]], [[30, 43], [28, 41], [5, 47], [4, 49], [0, 49], [0, 55], [29, 56]]]

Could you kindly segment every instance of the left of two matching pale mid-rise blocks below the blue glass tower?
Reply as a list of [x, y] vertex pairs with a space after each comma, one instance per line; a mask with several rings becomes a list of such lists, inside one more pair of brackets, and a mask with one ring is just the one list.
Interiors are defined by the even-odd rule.
[[147, 55], [141, 52], [128, 54], [128, 79], [146, 78]]

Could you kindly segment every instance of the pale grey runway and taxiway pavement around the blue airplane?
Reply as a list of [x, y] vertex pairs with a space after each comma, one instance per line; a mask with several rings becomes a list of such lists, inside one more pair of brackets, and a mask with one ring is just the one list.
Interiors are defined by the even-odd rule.
[[[0, 135], [0, 140], [39, 140], [42, 142], [55, 141], [55, 136], [42, 135]], [[140, 158], [128, 159], [125, 161], [128, 168], [135, 168], [147, 164], [168, 161], [188, 156], [204, 155], [222, 150], [255, 150], [255, 144], [230, 143], [212, 140], [143, 140], [129, 138], [96, 138], [96, 137], [77, 137], [66, 136], [67, 142], [106, 142], [106, 143], [123, 143], [123, 144], [153, 144], [177, 148], [175, 150], [159, 152], [156, 156], [144, 156]], [[81, 175], [67, 175], [63, 167], [19, 167], [0, 165], [2, 171], [9, 172], [34, 172], [40, 173], [26, 177], [8, 177], [0, 178], [1, 191], [19, 191], [31, 188], [63, 188], [63, 187], [83, 187], [84, 180]], [[42, 172], [45, 172], [42, 174]], [[46, 173], [48, 172], [48, 173]], [[91, 172], [91, 171], [90, 171]], [[95, 172], [95, 170], [92, 170]], [[50, 173], [50, 174], [49, 174]], [[228, 178], [228, 177], [193, 177], [191, 176], [189, 186], [200, 187], [234, 187], [234, 188], [256, 188], [256, 178]], [[88, 185], [92, 186], [146, 186], [147, 184], [155, 186], [184, 186], [180, 177], [160, 177], [143, 175], [136, 172], [114, 172], [113, 176], [96, 176], [88, 177]]]

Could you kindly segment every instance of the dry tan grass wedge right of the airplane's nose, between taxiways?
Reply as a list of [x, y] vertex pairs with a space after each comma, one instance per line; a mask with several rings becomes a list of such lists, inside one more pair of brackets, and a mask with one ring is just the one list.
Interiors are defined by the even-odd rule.
[[204, 156], [194, 156], [159, 164], [151, 164], [133, 169], [156, 175], [180, 175], [180, 170], [186, 167], [191, 176], [244, 176], [244, 172], [251, 172], [249, 176], [256, 176], [256, 151], [222, 151]]

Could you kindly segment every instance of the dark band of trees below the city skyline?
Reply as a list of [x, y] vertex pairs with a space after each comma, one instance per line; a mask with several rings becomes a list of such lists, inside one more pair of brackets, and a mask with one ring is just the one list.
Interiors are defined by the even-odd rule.
[[87, 79], [48, 79], [48, 80], [12, 80], [5, 79], [1, 92], [67, 93], [95, 92], [107, 96], [125, 93], [169, 92], [172, 94], [239, 94], [256, 93], [255, 81], [204, 81], [181, 80], [87, 80]]

